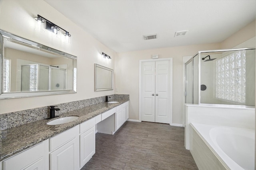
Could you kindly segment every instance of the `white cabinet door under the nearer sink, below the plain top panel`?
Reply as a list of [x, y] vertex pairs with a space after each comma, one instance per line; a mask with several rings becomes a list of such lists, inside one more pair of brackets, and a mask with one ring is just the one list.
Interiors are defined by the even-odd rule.
[[50, 153], [50, 170], [79, 170], [78, 136]]

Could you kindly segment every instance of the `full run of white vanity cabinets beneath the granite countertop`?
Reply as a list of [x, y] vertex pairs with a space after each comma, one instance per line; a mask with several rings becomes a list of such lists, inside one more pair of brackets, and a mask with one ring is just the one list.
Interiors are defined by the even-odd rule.
[[80, 170], [95, 154], [95, 125], [114, 134], [128, 116], [126, 102], [0, 161], [0, 170]]

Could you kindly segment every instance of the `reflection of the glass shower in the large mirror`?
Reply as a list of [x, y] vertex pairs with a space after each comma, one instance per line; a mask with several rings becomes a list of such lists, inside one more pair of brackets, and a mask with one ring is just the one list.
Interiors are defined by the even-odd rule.
[[58, 66], [28, 64], [21, 66], [21, 91], [66, 90], [66, 69]]

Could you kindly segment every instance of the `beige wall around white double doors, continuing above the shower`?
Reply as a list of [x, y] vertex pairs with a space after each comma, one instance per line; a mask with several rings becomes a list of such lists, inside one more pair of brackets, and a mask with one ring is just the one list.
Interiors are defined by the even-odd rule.
[[182, 57], [195, 55], [198, 51], [233, 48], [241, 43], [246, 47], [246, 44], [243, 44], [243, 42], [248, 39], [252, 39], [255, 44], [255, 38], [252, 37], [255, 37], [255, 21], [221, 43], [118, 53], [115, 63], [116, 88], [118, 88], [116, 93], [130, 94], [129, 118], [139, 119], [140, 60], [151, 59], [152, 54], [158, 54], [159, 58], [173, 58], [172, 123], [182, 124]]

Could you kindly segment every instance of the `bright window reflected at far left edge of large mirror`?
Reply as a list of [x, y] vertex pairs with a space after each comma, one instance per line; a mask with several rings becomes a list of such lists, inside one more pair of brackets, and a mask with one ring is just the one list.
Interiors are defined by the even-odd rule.
[[3, 73], [2, 76], [2, 89], [3, 92], [10, 92], [10, 67], [11, 67], [11, 60], [10, 59], [3, 59]]

